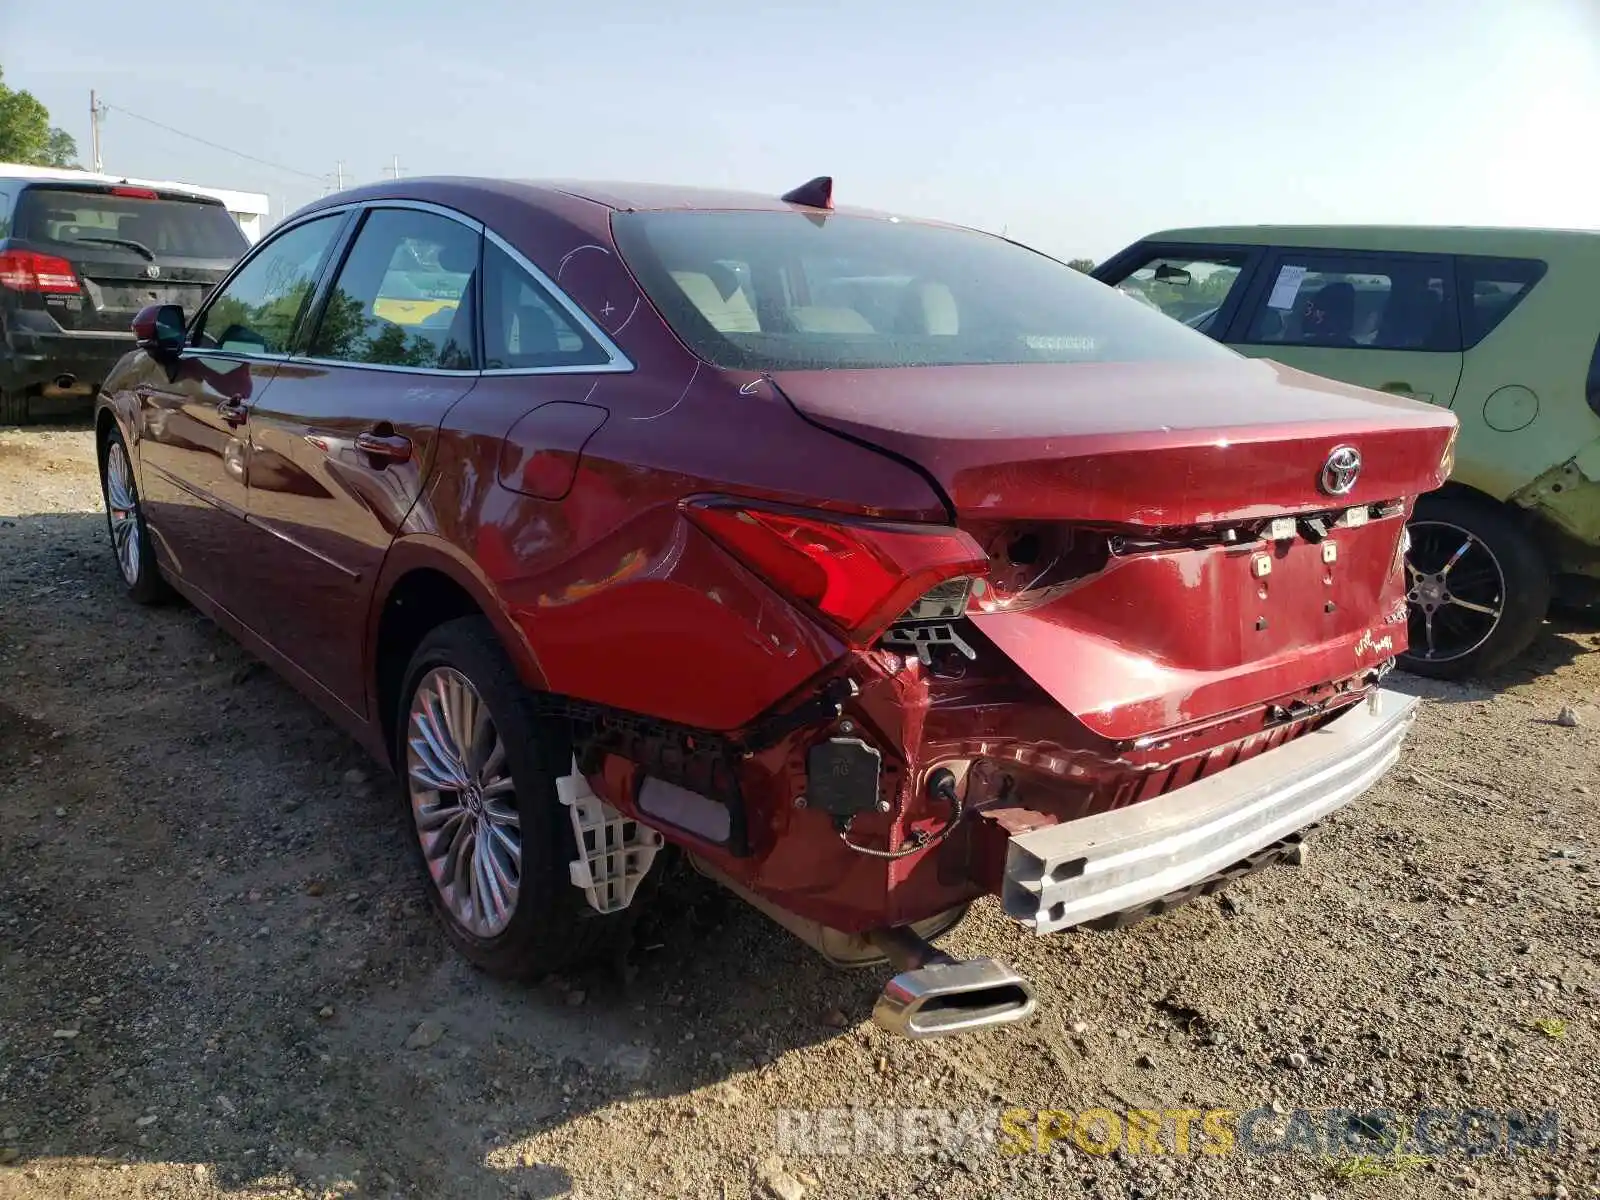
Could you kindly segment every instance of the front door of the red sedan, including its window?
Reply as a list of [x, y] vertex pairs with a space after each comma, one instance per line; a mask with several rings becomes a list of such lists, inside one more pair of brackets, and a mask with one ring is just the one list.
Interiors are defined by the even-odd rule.
[[288, 354], [346, 214], [274, 235], [190, 325], [178, 362], [134, 387], [146, 520], [165, 565], [245, 624], [250, 408]]

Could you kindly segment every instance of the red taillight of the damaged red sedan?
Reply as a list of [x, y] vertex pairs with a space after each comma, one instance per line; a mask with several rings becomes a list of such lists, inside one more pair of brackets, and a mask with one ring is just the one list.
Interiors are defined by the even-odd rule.
[[[696, 502], [690, 518], [784, 595], [867, 646], [933, 589], [952, 584], [966, 606], [970, 582], [989, 568], [960, 530], [843, 522], [739, 504]], [[955, 595], [949, 597], [952, 602]]]

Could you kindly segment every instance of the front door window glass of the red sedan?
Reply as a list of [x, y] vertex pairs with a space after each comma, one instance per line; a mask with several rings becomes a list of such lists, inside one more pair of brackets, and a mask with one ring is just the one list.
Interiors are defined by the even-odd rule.
[[208, 350], [288, 354], [294, 326], [342, 224], [344, 214], [334, 213], [262, 243], [205, 310], [194, 344]]

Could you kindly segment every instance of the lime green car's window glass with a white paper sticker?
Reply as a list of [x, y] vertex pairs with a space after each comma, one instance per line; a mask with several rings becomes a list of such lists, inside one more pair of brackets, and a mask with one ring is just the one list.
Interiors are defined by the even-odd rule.
[[1456, 349], [1453, 293], [1437, 259], [1285, 253], [1242, 341], [1368, 350]]

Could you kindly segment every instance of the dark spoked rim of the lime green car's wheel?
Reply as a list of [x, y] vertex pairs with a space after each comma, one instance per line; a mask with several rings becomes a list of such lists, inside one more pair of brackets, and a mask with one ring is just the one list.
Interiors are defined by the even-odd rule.
[[1453, 662], [1490, 640], [1506, 613], [1506, 573], [1470, 530], [1411, 522], [1405, 557], [1410, 656]]

